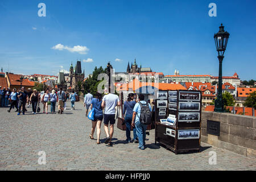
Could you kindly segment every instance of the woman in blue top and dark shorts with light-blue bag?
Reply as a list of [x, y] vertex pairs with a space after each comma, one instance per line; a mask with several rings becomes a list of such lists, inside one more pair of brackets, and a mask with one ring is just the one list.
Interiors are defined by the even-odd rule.
[[97, 127], [97, 144], [100, 144], [100, 135], [101, 135], [101, 122], [103, 120], [102, 113], [102, 95], [101, 93], [96, 93], [96, 98], [92, 99], [91, 108], [94, 108], [94, 120], [92, 121], [92, 130], [89, 135], [90, 139], [93, 139], [93, 134], [95, 131], [95, 127]]

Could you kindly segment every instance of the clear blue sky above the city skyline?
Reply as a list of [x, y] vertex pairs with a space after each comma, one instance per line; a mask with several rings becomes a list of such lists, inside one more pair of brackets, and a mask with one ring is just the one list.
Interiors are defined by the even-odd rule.
[[[38, 16], [40, 2], [46, 17]], [[209, 3], [216, 3], [217, 17], [208, 15]], [[115, 71], [126, 71], [136, 58], [164, 75], [179, 69], [181, 75], [218, 76], [213, 35], [223, 23], [230, 33], [223, 75], [237, 72], [242, 80], [256, 80], [255, 5], [254, 0], [0, 1], [0, 67], [57, 75], [81, 59], [90, 61], [82, 62], [88, 75], [108, 61]]]

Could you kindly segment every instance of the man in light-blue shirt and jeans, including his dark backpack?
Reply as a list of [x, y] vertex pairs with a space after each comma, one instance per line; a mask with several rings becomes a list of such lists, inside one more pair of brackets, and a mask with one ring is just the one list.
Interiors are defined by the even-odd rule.
[[139, 139], [138, 148], [145, 149], [146, 130], [147, 125], [151, 123], [151, 106], [148, 102], [144, 101], [143, 94], [139, 94], [139, 102], [135, 104], [133, 109], [133, 121], [131, 125], [136, 127], [137, 136]]

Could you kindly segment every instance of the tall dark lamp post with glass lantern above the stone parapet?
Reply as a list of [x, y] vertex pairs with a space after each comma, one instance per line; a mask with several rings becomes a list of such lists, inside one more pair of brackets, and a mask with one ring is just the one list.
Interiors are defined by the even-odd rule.
[[222, 60], [224, 59], [224, 52], [226, 50], [226, 44], [228, 44], [229, 33], [224, 31], [224, 26], [219, 27], [220, 30], [217, 34], [214, 34], [215, 46], [218, 51], [218, 95], [214, 102], [214, 111], [218, 113], [224, 112], [224, 102], [222, 100]]

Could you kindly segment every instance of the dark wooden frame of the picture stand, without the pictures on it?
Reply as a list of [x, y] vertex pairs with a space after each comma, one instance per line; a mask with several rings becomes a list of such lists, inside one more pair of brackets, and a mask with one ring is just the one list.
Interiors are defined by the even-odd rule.
[[[176, 110], [174, 110], [174, 107], [172, 106], [171, 109], [167, 106], [167, 111], [166, 111], [166, 116], [161, 116], [159, 115], [159, 108], [155, 107], [155, 144], [156, 142], [159, 142], [160, 144], [163, 144], [166, 148], [170, 149], [171, 151], [175, 152], [175, 154], [178, 154], [179, 152], [182, 151], [197, 151], [200, 152], [200, 142], [201, 142], [201, 106], [202, 106], [202, 96], [201, 92], [197, 90], [163, 90], [171, 91], [171, 94], [175, 95], [174, 91], [177, 91], [176, 96], [171, 96], [173, 98], [177, 98], [176, 102]], [[199, 98], [197, 98], [197, 101], [195, 101], [195, 98], [192, 98], [191, 101], [184, 100], [184, 98], [179, 100], [180, 92], [185, 92], [185, 93], [197, 93], [194, 95], [199, 94]], [[193, 94], [192, 94], [193, 95]], [[167, 103], [169, 105], [169, 93], [167, 97]], [[189, 96], [188, 96], [189, 98]], [[173, 101], [173, 100], [172, 100]], [[155, 104], [157, 106], [158, 100], [155, 100]], [[193, 102], [199, 102], [200, 110], [199, 111], [179, 111], [179, 102], [188, 102], [188, 103], [193, 103]], [[171, 104], [174, 104], [172, 102]], [[193, 107], [193, 106], [192, 106]], [[192, 117], [188, 119], [188, 121], [179, 121], [179, 114], [182, 113], [187, 113], [188, 117]], [[192, 116], [189, 115], [189, 113], [192, 114]], [[195, 113], [199, 113], [199, 118], [195, 116]], [[176, 123], [175, 126], [169, 126], [169, 125], [164, 125], [160, 123], [160, 119], [166, 119], [169, 114], [175, 115], [176, 116]], [[193, 118], [193, 117], [196, 117]], [[197, 120], [197, 121], [193, 121]], [[175, 137], [170, 134], [170, 131], [175, 130]], [[199, 138], [189, 138], [189, 139], [178, 139], [179, 131], [180, 130], [199, 130]], [[193, 132], [193, 131], [192, 131]], [[174, 133], [174, 132], [173, 132]], [[188, 133], [191, 135], [191, 132], [188, 131]], [[196, 134], [196, 132], [194, 133]], [[183, 135], [184, 136], [184, 135]], [[188, 135], [187, 135], [188, 137]]]

